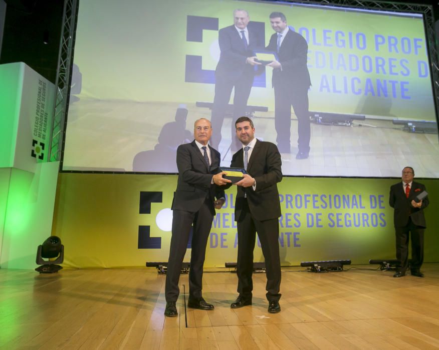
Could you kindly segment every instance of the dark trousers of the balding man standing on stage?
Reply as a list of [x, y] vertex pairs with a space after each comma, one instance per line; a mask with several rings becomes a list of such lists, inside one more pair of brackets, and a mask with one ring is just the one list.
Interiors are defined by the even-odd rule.
[[193, 224], [189, 268], [189, 299], [202, 298], [202, 275], [206, 252], [207, 238], [212, 226], [213, 215], [209, 209], [209, 196], [198, 211], [173, 210], [172, 237], [169, 249], [169, 259], [166, 271], [165, 298], [166, 301], [176, 301], [180, 289], [181, 265], [186, 253], [189, 234]]

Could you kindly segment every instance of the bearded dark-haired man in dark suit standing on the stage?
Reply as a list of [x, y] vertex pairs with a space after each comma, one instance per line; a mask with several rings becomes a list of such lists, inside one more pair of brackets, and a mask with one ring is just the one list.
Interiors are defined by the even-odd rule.
[[282, 160], [274, 143], [255, 138], [253, 121], [242, 116], [236, 121], [236, 135], [241, 149], [232, 157], [232, 167], [247, 169], [237, 182], [235, 220], [238, 222], [238, 298], [231, 304], [238, 308], [252, 304], [253, 249], [256, 232], [261, 242], [267, 270], [268, 311], [281, 310], [279, 293], [281, 261], [279, 256], [279, 216], [281, 204], [277, 183], [282, 180]]

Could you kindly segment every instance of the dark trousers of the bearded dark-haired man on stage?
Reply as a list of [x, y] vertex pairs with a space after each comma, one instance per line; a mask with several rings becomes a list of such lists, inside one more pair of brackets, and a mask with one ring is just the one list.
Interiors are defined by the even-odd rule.
[[279, 256], [278, 218], [259, 221], [250, 212], [247, 200], [238, 219], [238, 293], [246, 299], [252, 298], [253, 249], [256, 232], [261, 242], [267, 271], [267, 299], [279, 300], [281, 285], [281, 259]]

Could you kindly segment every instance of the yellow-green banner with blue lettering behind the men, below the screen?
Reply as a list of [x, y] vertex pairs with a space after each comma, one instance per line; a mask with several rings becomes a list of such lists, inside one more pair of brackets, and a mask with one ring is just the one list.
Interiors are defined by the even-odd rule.
[[[65, 246], [64, 266], [144, 266], [167, 261], [176, 175], [61, 173], [53, 233]], [[282, 217], [279, 244], [283, 265], [301, 261], [395, 258], [393, 209], [388, 205], [397, 179], [297, 178], [279, 183]], [[437, 180], [422, 180], [425, 261], [438, 261]], [[237, 256], [234, 220], [236, 188], [226, 191], [207, 243], [205, 267], [224, 266]], [[184, 261], [189, 261], [190, 248]], [[259, 242], [255, 261], [263, 261]]]

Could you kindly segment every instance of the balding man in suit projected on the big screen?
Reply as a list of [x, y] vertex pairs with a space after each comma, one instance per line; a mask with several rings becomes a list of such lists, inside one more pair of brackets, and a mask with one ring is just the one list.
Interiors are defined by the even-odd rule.
[[232, 89], [235, 88], [231, 136], [232, 149], [238, 149], [238, 143], [234, 144], [235, 120], [246, 113], [255, 76], [254, 65], [261, 65], [255, 61], [254, 49], [258, 46], [259, 38], [255, 31], [247, 26], [250, 22], [249, 13], [245, 9], [236, 9], [233, 17], [234, 25], [222, 28], [218, 32], [221, 54], [215, 70], [215, 96], [211, 118], [213, 129], [211, 143], [215, 148], [220, 144], [226, 108]]

